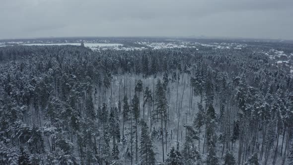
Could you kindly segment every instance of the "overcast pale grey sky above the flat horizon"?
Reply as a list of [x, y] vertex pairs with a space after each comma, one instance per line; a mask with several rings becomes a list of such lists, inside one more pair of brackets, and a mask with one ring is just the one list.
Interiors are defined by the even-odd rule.
[[0, 0], [0, 39], [201, 35], [293, 39], [293, 0]]

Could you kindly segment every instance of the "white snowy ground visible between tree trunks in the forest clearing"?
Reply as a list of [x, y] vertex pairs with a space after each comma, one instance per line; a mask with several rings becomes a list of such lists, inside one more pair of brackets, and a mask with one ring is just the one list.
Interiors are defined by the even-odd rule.
[[[143, 84], [144, 84], [144, 88], [145, 87], [149, 87], [149, 89], [151, 91], [153, 91], [153, 78], [152, 77], [148, 77], [147, 79], [143, 79], [142, 76], [128, 76], [126, 77], [126, 90], [124, 91], [123, 86], [124, 86], [124, 79], [125, 76], [118, 76], [118, 77], [114, 77], [114, 81], [112, 84], [112, 94], [113, 94], [113, 100], [111, 101], [110, 99], [108, 99], [107, 104], [110, 106], [111, 104], [118, 106], [118, 100], [119, 100], [119, 80], [122, 80], [122, 84], [120, 86], [120, 100], [123, 99], [124, 95], [127, 95], [129, 98], [129, 82], [131, 82], [131, 98], [133, 98], [133, 95], [135, 93], [134, 91], [134, 84], [135, 82], [137, 82], [138, 80], [142, 80]], [[160, 79], [162, 80], [162, 75], [158, 75], [157, 78], [154, 80], [154, 84], [156, 84], [156, 81]], [[183, 81], [182, 81], [183, 79]], [[198, 96], [193, 96], [192, 99], [192, 107], [189, 106], [189, 99], [191, 96], [191, 86], [190, 86], [190, 82], [189, 82], [190, 77], [187, 77], [187, 75], [185, 75], [184, 77], [181, 77], [179, 85], [178, 85], [178, 100], [177, 100], [177, 110], [176, 110], [176, 93], [177, 93], [177, 83], [171, 83], [169, 82], [169, 87], [170, 87], [170, 93], [166, 93], [166, 97], [167, 100], [170, 100], [169, 103], [169, 122], [167, 123], [167, 127], [168, 127], [168, 140], [167, 140], [167, 151], [164, 151], [164, 158], [167, 158], [167, 154], [170, 152], [170, 149], [172, 147], [176, 148], [176, 142], [177, 142], [177, 133], [178, 133], [178, 142], [179, 142], [179, 149], [182, 150], [182, 145], [185, 141], [185, 128], [183, 127], [183, 125], [185, 124], [192, 124], [195, 115], [198, 112], [198, 106], [197, 106], [197, 102], [200, 102], [200, 97]], [[185, 86], [185, 87], [184, 87]], [[184, 92], [183, 92], [184, 90]], [[107, 98], [110, 98], [111, 96], [111, 91], [109, 90], [107, 92]], [[182, 97], [183, 96], [183, 97]], [[169, 98], [170, 97], [170, 98]], [[180, 109], [180, 113], [179, 113], [179, 108], [180, 108], [180, 104], [181, 104], [181, 98], [183, 98], [182, 101], [182, 108]], [[140, 100], [142, 102], [143, 99], [143, 93], [140, 93]], [[99, 101], [96, 98], [96, 102], [95, 102], [95, 106], [96, 108], [99, 106]], [[148, 121], [148, 126], [150, 126], [150, 122], [149, 122], [149, 115], [147, 112], [147, 105], [146, 107], [143, 107], [142, 103], [140, 105], [140, 112], [141, 112], [141, 118], [143, 117], [143, 111], [145, 111], [145, 121]], [[218, 104], [215, 104], [215, 110], [216, 113], [220, 113], [220, 107]], [[180, 115], [180, 117], [178, 116]], [[177, 129], [177, 123], [178, 123], [178, 117], [179, 117], [179, 129]], [[232, 114], [232, 118], [236, 119], [236, 114], [233, 113]], [[122, 126], [122, 119], [123, 117], [120, 116], [120, 126]], [[233, 119], [232, 119], [233, 120]], [[129, 123], [128, 123], [129, 124]], [[129, 127], [127, 126], [127, 124], [125, 125], [125, 127]], [[153, 121], [152, 123], [152, 127], [155, 127], [156, 129], [160, 128], [160, 120], [158, 121]], [[165, 127], [165, 126], [163, 126]], [[122, 128], [120, 128], [122, 131]], [[153, 130], [153, 129], [152, 129]], [[172, 130], [172, 136], [171, 136], [171, 131]], [[204, 130], [204, 128], [202, 128], [202, 130]], [[218, 127], [217, 131], [216, 131], [217, 136], [220, 135], [220, 126]], [[121, 133], [122, 135], [122, 133]], [[139, 133], [139, 138], [140, 139], [141, 134]], [[165, 134], [164, 134], [165, 136]], [[203, 153], [203, 145], [204, 145], [204, 131], [202, 131], [201, 135], [200, 135], [200, 153]], [[259, 135], [259, 139], [258, 139], [258, 143], [261, 144], [262, 143], [262, 135]], [[283, 135], [280, 135], [279, 139], [282, 139]], [[135, 142], [134, 142], [135, 143]], [[164, 143], [165, 143], [165, 139], [164, 139]], [[154, 141], [154, 146], [155, 146], [155, 152], [157, 153], [156, 155], [156, 160], [157, 162], [161, 162], [162, 163], [162, 144], [161, 144], [161, 140], [155, 140]], [[195, 144], [195, 146], [198, 148], [198, 143]], [[122, 147], [122, 144], [120, 144], [120, 147]], [[164, 150], [165, 150], [165, 144], [164, 144]], [[206, 146], [207, 147], [207, 146]], [[282, 144], [279, 141], [279, 151], [281, 151], [281, 147]], [[260, 145], [261, 148], [261, 145]], [[236, 144], [233, 145], [233, 148], [231, 150], [232, 153], [234, 153], [234, 156], [237, 156], [238, 153], [238, 149], [239, 149], [239, 144], [238, 142], [236, 142]], [[122, 151], [123, 148], [120, 149], [120, 151]], [[220, 164], [223, 163], [223, 158], [222, 158], [222, 145], [218, 145], [216, 148], [217, 151], [217, 155], [219, 157], [219, 162]], [[225, 152], [224, 152], [225, 153]], [[278, 152], [278, 154], [280, 154], [280, 152]], [[250, 155], [247, 155], [247, 158], [245, 160], [248, 159]], [[273, 157], [274, 154], [271, 154], [270, 157]], [[203, 155], [203, 158], [206, 157], [206, 154]], [[270, 161], [272, 161], [273, 159], [270, 159]], [[264, 159], [263, 159], [264, 161]], [[269, 163], [270, 163], [269, 161]], [[245, 161], [244, 161], [245, 162]], [[262, 161], [261, 161], [262, 162]], [[277, 162], [281, 162], [281, 158], [277, 158]], [[128, 162], [125, 162], [126, 164]]]

